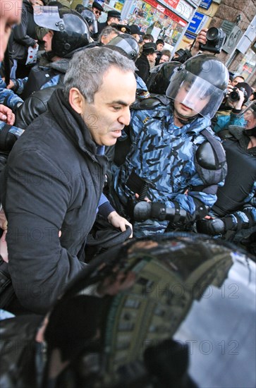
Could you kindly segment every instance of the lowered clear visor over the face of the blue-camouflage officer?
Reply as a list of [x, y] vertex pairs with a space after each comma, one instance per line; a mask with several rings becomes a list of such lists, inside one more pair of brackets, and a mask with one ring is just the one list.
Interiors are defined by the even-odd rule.
[[183, 69], [174, 71], [166, 96], [193, 109], [196, 114], [212, 118], [219, 109], [224, 91]]

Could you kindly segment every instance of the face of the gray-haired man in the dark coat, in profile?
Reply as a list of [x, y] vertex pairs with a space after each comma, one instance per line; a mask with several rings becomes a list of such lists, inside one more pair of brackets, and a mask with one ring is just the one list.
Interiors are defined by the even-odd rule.
[[132, 71], [112, 66], [104, 75], [94, 102], [83, 98], [83, 119], [97, 145], [114, 145], [130, 123], [130, 104], [135, 101], [136, 81]]

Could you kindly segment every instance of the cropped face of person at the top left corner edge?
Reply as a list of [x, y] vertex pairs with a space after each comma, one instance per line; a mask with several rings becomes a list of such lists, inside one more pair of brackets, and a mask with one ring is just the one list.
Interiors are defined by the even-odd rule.
[[21, 8], [22, 0], [0, 1], [0, 62], [4, 59], [11, 28], [20, 23]]

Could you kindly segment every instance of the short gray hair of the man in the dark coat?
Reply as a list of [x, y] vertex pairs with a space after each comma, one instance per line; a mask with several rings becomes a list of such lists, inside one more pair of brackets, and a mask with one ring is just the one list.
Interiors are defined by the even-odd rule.
[[135, 73], [135, 63], [117, 51], [106, 47], [83, 49], [73, 55], [64, 78], [64, 95], [68, 99], [72, 87], [80, 90], [89, 104], [102, 86], [104, 74], [115, 66], [122, 72]]

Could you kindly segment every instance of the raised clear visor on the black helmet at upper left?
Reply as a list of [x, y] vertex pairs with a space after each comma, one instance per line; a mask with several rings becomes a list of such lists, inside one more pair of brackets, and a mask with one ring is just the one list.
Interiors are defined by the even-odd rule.
[[37, 25], [49, 30], [65, 30], [63, 19], [59, 16], [59, 8], [55, 6], [35, 6], [34, 20]]

